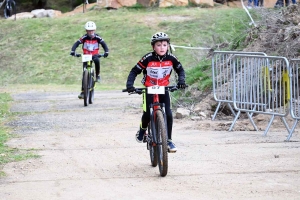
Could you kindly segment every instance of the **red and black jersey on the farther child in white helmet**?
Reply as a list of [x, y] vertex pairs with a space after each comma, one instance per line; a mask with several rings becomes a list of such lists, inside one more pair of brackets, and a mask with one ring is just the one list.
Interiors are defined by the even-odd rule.
[[106, 43], [98, 34], [95, 34], [93, 38], [85, 34], [74, 43], [72, 51], [75, 51], [80, 44], [82, 44], [83, 54], [99, 54], [99, 44], [102, 46], [104, 52], [109, 53]]

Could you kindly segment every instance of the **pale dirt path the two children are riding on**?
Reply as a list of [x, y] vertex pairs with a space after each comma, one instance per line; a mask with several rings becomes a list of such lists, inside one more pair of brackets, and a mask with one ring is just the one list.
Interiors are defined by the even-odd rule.
[[1, 200], [300, 199], [299, 135], [283, 142], [284, 132], [201, 131], [176, 119], [178, 152], [161, 178], [134, 139], [140, 96], [98, 91], [88, 107], [76, 96], [13, 94], [19, 117], [9, 125], [19, 137], [8, 144], [41, 157], [4, 167]]

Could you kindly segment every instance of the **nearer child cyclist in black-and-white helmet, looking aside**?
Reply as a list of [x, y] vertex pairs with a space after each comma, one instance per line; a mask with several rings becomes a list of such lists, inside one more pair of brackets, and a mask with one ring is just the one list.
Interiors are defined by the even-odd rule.
[[[131, 69], [126, 88], [127, 91], [133, 92], [135, 90], [134, 81], [138, 74], [143, 72], [142, 84], [146, 87], [159, 85], [167, 86], [172, 73], [172, 69], [178, 74], [178, 88], [185, 88], [185, 72], [179, 60], [168, 49], [170, 46], [170, 38], [166, 33], [155, 33], [151, 38], [151, 45], [153, 51], [147, 53], [142, 59]], [[146, 94], [146, 104], [152, 102], [153, 95]], [[177, 148], [172, 142], [172, 126], [173, 116], [171, 111], [171, 102], [169, 92], [159, 95], [160, 103], [165, 104], [165, 111], [167, 115], [168, 127], [168, 149], [170, 152], [176, 152]], [[143, 112], [139, 131], [136, 133], [137, 142], [143, 142], [144, 134], [150, 122], [150, 109], [147, 106], [147, 111]]]

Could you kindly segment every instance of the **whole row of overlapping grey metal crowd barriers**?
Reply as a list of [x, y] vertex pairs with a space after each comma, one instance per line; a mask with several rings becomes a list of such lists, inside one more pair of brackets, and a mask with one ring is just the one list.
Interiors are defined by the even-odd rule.
[[[287, 141], [290, 140], [300, 120], [300, 60], [289, 63], [285, 57], [261, 52], [216, 51], [212, 58], [212, 77], [213, 94], [218, 102], [212, 120], [222, 103], [235, 116], [229, 131], [241, 112], [247, 114], [255, 130], [253, 113], [271, 115], [266, 135], [278, 116], [289, 132]], [[295, 120], [291, 129], [285, 119], [289, 114]]]

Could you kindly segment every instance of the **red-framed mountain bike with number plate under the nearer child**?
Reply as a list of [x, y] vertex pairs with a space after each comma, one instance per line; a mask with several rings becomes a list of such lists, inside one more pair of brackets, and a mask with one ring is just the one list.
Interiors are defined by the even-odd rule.
[[[174, 92], [178, 90], [176, 86], [151, 86], [147, 88], [135, 88], [135, 91], [129, 94], [143, 94], [143, 110], [146, 111], [146, 94], [153, 94], [153, 102], [150, 103], [150, 123], [148, 125], [148, 134], [144, 137], [147, 143], [147, 150], [150, 153], [151, 165], [159, 166], [160, 176], [166, 176], [168, 173], [168, 128], [165, 114], [164, 103], [159, 103], [159, 94], [165, 94], [166, 91]], [[122, 92], [127, 92], [123, 89]]]

